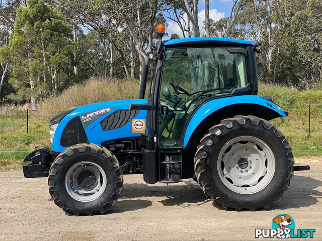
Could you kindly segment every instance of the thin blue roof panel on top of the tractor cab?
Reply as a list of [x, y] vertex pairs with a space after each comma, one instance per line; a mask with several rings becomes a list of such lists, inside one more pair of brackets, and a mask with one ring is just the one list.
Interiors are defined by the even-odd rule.
[[162, 41], [164, 45], [184, 45], [184, 44], [211, 44], [211, 43], [238, 43], [256, 45], [256, 41], [226, 39], [226, 38], [187, 38], [187, 39], [170, 39]]

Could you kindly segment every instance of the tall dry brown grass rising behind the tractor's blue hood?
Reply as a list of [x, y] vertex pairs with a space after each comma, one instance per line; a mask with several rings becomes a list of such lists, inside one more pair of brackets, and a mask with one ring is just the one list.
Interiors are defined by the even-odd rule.
[[139, 81], [135, 79], [90, 78], [83, 84], [73, 85], [59, 96], [46, 99], [38, 105], [40, 118], [50, 118], [70, 107], [118, 99], [135, 99]]

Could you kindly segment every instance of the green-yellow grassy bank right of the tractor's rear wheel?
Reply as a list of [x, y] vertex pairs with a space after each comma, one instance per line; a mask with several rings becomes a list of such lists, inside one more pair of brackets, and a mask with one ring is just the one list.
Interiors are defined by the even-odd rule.
[[294, 156], [322, 156], [322, 90], [298, 91], [293, 87], [262, 84], [259, 95], [272, 96], [282, 109], [289, 112], [287, 118], [277, 118], [272, 123], [284, 133], [292, 146]]

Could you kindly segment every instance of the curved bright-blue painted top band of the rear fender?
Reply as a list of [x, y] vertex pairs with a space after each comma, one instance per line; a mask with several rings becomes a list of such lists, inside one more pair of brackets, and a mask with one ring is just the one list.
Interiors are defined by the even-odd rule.
[[186, 133], [184, 135], [183, 148], [187, 146], [189, 139], [192, 133], [194, 132], [194, 130], [196, 130], [198, 125], [208, 115], [225, 106], [232, 105], [232, 104], [240, 104], [240, 103], [262, 105], [271, 110], [276, 111], [281, 117], [286, 117], [285, 112], [277, 104], [270, 102], [266, 99], [263, 99], [257, 95], [239, 95], [239, 96], [213, 99], [203, 104], [190, 119], [190, 122], [186, 129]]

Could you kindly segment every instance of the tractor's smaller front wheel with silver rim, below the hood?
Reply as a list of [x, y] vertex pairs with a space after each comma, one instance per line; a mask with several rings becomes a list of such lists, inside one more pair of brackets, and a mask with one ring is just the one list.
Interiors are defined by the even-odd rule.
[[57, 206], [74, 215], [103, 213], [118, 199], [123, 172], [116, 157], [94, 144], [77, 144], [52, 164], [49, 193]]

